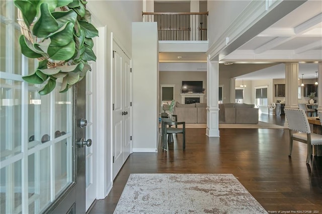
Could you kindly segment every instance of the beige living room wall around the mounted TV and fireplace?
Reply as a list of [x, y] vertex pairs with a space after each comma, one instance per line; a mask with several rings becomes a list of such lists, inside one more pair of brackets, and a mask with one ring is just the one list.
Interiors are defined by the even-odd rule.
[[[203, 88], [207, 88], [207, 71], [160, 71], [159, 72], [159, 91], [163, 84], [175, 85], [175, 100], [181, 103], [182, 81], [202, 81]], [[204, 102], [207, 102], [207, 90], [205, 90]], [[161, 95], [159, 103], [161, 103]], [[162, 112], [162, 108], [160, 108]]]

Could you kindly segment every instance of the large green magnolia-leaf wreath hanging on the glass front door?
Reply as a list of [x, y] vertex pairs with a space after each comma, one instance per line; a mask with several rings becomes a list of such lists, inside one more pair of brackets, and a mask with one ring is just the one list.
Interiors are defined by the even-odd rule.
[[92, 38], [98, 30], [91, 24], [86, 4], [83, 0], [15, 0], [21, 52], [39, 60], [35, 72], [23, 79], [33, 84], [47, 81], [39, 94], [50, 93], [57, 78], [62, 78], [60, 92], [67, 91], [91, 70], [88, 61], [96, 61]]

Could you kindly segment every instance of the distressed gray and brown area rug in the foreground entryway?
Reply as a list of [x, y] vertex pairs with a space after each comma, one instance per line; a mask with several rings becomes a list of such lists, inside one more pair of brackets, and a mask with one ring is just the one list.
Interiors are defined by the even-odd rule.
[[267, 213], [232, 174], [131, 174], [114, 213]]

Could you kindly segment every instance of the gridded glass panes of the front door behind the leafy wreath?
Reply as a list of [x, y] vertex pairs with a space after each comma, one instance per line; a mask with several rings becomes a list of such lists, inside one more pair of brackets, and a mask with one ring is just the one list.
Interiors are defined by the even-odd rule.
[[0, 4], [0, 213], [39, 213], [75, 179], [72, 92], [23, 81], [38, 61], [20, 52], [13, 1]]

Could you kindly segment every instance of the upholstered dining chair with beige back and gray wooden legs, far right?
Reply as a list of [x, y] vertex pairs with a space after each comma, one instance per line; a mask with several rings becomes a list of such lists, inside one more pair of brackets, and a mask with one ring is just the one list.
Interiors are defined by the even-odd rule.
[[293, 141], [306, 143], [306, 163], [309, 163], [312, 155], [312, 145], [322, 145], [322, 135], [311, 133], [304, 110], [284, 109], [284, 112], [288, 122], [290, 135], [289, 156], [291, 156], [292, 153]]

